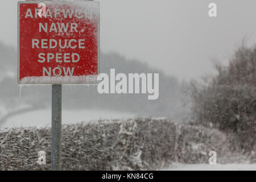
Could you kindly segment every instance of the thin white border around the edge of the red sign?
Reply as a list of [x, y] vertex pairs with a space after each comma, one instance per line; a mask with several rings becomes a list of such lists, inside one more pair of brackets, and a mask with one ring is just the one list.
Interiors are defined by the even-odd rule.
[[[23, 4], [23, 3], [35, 3], [35, 4], [39, 4], [39, 3], [48, 3], [49, 1], [18, 1], [18, 13], [17, 13], [17, 23], [18, 23], [18, 28], [17, 28], [17, 43], [18, 43], [18, 51], [17, 51], [17, 60], [18, 60], [18, 64], [17, 64], [17, 78], [18, 78], [18, 84], [22, 85], [22, 84], [34, 84], [34, 85], [53, 85], [53, 84], [62, 84], [62, 85], [73, 85], [73, 84], [78, 84], [78, 85], [96, 85], [97, 84], [97, 79], [94, 80], [94, 81], [86, 81], [86, 82], [73, 82], [73, 83], [70, 83], [70, 82], [47, 82], [47, 83], [32, 83], [32, 82], [28, 82], [28, 83], [22, 83], [20, 82], [19, 80], [19, 15], [20, 15], [20, 10], [19, 10], [19, 6], [20, 4]], [[60, 1], [56, 1], [57, 2], [60, 2]], [[72, 3], [72, 1], [61, 1], [61, 3]], [[100, 74], [100, 2], [98, 1], [74, 1], [74, 2], [85, 2], [85, 3], [98, 3], [98, 37], [97, 37], [97, 42], [98, 42], [98, 60], [97, 60], [97, 64], [98, 64], [98, 74]], [[93, 77], [97, 77], [98, 75], [88, 75], [88, 76], [93, 76]], [[94, 78], [95, 79], [95, 78]]]

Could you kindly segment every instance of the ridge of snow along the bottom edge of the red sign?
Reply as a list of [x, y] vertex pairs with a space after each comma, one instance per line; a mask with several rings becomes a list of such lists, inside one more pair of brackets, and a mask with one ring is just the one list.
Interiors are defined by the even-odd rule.
[[30, 76], [24, 77], [19, 84], [98, 84], [97, 75], [88, 76]]

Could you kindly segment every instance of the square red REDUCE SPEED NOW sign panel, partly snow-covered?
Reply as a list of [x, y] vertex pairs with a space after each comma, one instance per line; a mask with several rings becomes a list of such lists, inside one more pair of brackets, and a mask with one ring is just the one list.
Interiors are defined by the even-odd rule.
[[99, 2], [18, 2], [18, 83], [96, 84]]

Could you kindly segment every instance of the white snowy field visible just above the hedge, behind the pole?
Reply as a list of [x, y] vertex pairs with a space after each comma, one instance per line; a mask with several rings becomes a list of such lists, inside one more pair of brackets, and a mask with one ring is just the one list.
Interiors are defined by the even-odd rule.
[[[124, 113], [109, 110], [63, 110], [62, 123], [71, 124], [82, 121], [96, 121], [98, 119], [121, 119], [133, 118], [132, 113]], [[45, 127], [51, 126], [51, 108], [27, 111], [25, 113], [13, 115], [1, 125], [5, 127]]]

